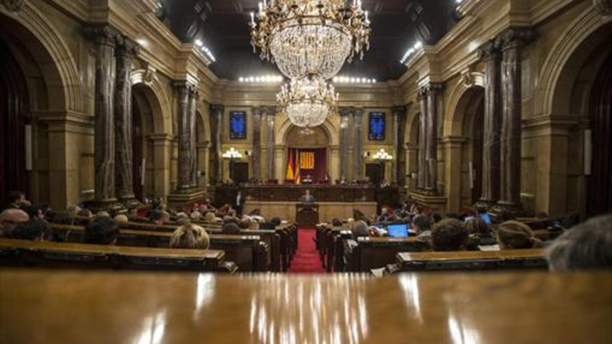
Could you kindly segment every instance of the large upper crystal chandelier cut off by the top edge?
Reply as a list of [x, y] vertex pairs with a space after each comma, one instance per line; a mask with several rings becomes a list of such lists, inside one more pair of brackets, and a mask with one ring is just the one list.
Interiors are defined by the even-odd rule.
[[291, 79], [334, 77], [345, 61], [370, 48], [370, 20], [361, 0], [263, 0], [251, 13], [251, 44], [261, 59]]

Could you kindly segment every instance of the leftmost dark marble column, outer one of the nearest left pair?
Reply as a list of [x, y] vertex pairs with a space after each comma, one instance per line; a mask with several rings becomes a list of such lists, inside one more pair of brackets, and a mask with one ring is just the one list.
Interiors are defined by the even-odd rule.
[[117, 208], [115, 197], [115, 45], [117, 32], [110, 26], [89, 28], [95, 43], [94, 210]]

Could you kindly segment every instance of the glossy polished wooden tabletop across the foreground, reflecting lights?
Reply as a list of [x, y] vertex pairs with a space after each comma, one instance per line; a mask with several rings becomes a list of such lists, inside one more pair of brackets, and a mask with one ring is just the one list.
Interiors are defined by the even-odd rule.
[[612, 272], [0, 270], [1, 343], [605, 343]]

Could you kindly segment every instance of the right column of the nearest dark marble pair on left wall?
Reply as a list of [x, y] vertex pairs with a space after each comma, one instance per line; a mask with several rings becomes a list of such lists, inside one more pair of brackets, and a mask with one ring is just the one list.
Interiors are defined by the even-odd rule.
[[132, 166], [132, 82], [130, 73], [138, 45], [119, 36], [116, 57], [115, 119], [115, 192], [126, 206], [138, 204], [133, 189]]

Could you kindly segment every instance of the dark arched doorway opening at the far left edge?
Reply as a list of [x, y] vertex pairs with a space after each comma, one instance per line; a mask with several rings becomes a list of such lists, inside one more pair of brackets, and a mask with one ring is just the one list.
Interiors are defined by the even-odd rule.
[[[19, 190], [30, 197], [31, 159], [26, 162], [26, 125], [29, 135], [32, 133], [28, 85], [17, 59], [2, 40], [0, 51], [0, 195]], [[31, 142], [31, 136], [28, 140]], [[28, 149], [31, 154], [31, 146]]]

